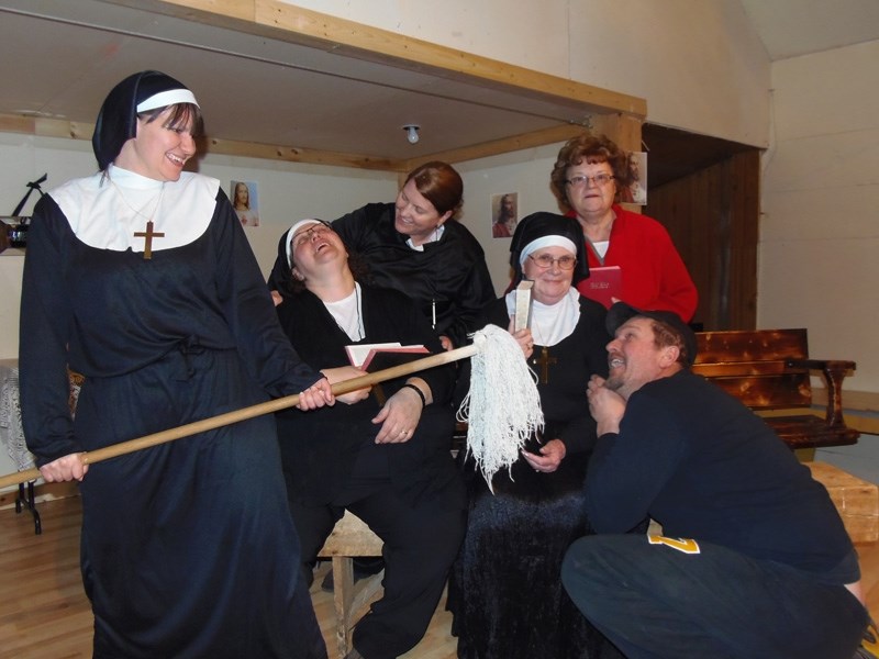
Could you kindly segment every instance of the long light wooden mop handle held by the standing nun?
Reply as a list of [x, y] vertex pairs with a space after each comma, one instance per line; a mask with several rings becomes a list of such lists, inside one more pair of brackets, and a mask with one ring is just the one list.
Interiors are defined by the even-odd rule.
[[[476, 345], [464, 346], [463, 348], [457, 348], [447, 353], [439, 353], [437, 355], [431, 355], [430, 357], [423, 357], [414, 361], [409, 361], [407, 364], [386, 368], [385, 370], [376, 371], [374, 373], [360, 376], [359, 378], [343, 380], [342, 382], [336, 382], [333, 384], [333, 395], [348, 393], [351, 391], [356, 391], [357, 389], [371, 387], [372, 384], [383, 382], [385, 380], [392, 380], [394, 378], [408, 376], [418, 371], [433, 368], [435, 366], [450, 364], [453, 361], [464, 359], [465, 357], [470, 357], [477, 351], [478, 348]], [[134, 453], [135, 450], [149, 448], [151, 446], [158, 446], [159, 444], [174, 442], [175, 439], [181, 439], [182, 437], [189, 437], [190, 435], [196, 435], [198, 433], [213, 431], [214, 428], [219, 428], [224, 425], [230, 425], [240, 421], [246, 421], [255, 416], [262, 416], [263, 414], [278, 412], [280, 410], [286, 410], [287, 407], [294, 407], [298, 404], [298, 393], [275, 399], [272, 401], [266, 401], [265, 403], [257, 403], [256, 405], [242, 407], [241, 410], [226, 412], [225, 414], [218, 414], [216, 416], [202, 418], [201, 421], [194, 421], [176, 428], [169, 428], [159, 433], [153, 433], [152, 435], [144, 435], [143, 437], [137, 437], [120, 444], [112, 444], [110, 446], [104, 446], [103, 448], [90, 450], [82, 456], [82, 461], [86, 462], [86, 465], [93, 465], [94, 462], [101, 462], [103, 460], [109, 460], [110, 458], [124, 456], [126, 454]], [[40, 478], [40, 470], [36, 468], [16, 471], [15, 473], [9, 473], [0, 477], [0, 488], [24, 483], [36, 480], [37, 478]]]

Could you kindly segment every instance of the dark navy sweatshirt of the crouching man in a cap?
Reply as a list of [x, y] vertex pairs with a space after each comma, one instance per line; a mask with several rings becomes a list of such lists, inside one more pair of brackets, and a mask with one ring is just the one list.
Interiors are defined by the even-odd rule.
[[630, 396], [620, 433], [602, 435], [586, 480], [596, 530], [649, 514], [669, 537], [714, 543], [857, 581], [852, 541], [824, 487], [739, 401], [682, 370]]

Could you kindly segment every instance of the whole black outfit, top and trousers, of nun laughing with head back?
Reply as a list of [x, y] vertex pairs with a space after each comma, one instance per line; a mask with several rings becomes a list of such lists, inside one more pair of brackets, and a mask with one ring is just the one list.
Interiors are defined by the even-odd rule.
[[[426, 319], [397, 291], [361, 287], [365, 338], [359, 343], [421, 344], [442, 351]], [[348, 365], [353, 342], [323, 302], [308, 290], [285, 293], [281, 326], [313, 368]], [[423, 355], [414, 355], [419, 357]], [[345, 509], [385, 541], [385, 593], [354, 632], [354, 647], [370, 659], [392, 658], [421, 640], [442, 596], [464, 533], [465, 493], [450, 456], [454, 413], [448, 404], [452, 365], [415, 373], [431, 388], [415, 433], [401, 444], [375, 444], [380, 388], [391, 396], [405, 378], [374, 388], [364, 401], [336, 402], [302, 414], [278, 414], [278, 437], [302, 569], [309, 573]]]

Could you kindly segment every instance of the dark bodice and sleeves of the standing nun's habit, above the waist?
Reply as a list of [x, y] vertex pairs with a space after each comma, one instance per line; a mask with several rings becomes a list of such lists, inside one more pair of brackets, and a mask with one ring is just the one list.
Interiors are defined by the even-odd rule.
[[298, 393], [318, 379], [278, 327], [259, 266], [222, 190], [204, 234], [154, 252], [149, 260], [131, 249], [86, 245], [49, 194], [34, 217], [21, 305], [27, 339], [19, 367], [24, 431], [38, 466], [84, 450], [68, 407], [68, 365], [87, 379], [110, 378], [186, 345], [236, 349], [270, 395]]

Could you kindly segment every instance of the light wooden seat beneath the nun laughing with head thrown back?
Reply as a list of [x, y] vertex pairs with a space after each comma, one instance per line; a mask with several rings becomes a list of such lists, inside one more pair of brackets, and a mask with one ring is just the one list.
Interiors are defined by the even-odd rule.
[[345, 512], [318, 554], [333, 561], [333, 604], [336, 612], [336, 646], [340, 659], [351, 650], [351, 635], [381, 590], [382, 570], [354, 582], [355, 556], [381, 556], [381, 539], [357, 515]]

